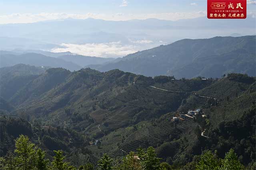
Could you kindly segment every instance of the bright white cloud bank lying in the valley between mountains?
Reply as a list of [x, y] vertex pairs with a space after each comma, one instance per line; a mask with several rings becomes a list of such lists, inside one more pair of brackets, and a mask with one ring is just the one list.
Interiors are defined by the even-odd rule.
[[96, 57], [123, 57], [138, 51], [137, 47], [133, 45], [122, 45], [120, 42], [112, 43], [86, 43], [78, 44], [61, 44], [62, 48], [54, 48], [51, 51], [54, 53], [70, 51], [86, 56]]

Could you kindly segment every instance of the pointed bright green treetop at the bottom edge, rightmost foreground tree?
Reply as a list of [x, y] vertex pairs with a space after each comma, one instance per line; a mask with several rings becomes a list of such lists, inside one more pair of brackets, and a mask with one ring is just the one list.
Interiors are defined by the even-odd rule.
[[242, 170], [244, 166], [239, 162], [234, 149], [230, 149], [226, 153], [225, 158], [221, 161], [222, 166], [220, 170]]

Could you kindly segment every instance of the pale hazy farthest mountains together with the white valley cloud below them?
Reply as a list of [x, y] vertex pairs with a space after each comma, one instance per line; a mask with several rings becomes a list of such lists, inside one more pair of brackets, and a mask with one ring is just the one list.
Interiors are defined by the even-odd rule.
[[[218, 26], [216, 26], [218, 25]], [[96, 57], [123, 57], [180, 39], [253, 35], [255, 19], [158, 19], [106, 21], [88, 18], [0, 25], [2, 50], [44, 50]], [[237, 34], [236, 34], [237, 35]]]

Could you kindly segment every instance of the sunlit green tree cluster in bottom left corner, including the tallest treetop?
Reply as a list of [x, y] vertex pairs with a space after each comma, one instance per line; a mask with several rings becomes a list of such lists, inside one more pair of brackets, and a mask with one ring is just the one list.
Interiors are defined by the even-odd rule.
[[64, 162], [62, 150], [54, 150], [53, 161], [45, 158], [46, 153], [32, 143], [27, 136], [20, 135], [16, 139], [16, 149], [5, 157], [0, 157], [0, 168], [2, 170], [76, 170]]

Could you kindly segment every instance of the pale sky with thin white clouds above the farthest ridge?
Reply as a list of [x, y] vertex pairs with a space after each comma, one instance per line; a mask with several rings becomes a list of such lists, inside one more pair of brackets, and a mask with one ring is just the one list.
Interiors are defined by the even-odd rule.
[[[256, 0], [247, 0], [255, 13]], [[0, 0], [0, 23], [64, 18], [179, 20], [206, 15], [206, 0]]]

